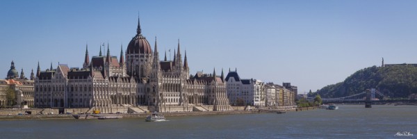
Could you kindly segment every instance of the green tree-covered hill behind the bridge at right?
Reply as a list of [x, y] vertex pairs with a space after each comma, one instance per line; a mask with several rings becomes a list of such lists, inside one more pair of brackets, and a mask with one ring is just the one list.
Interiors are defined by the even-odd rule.
[[394, 65], [390, 67], [367, 67], [347, 77], [345, 81], [309, 94], [317, 93], [322, 98], [346, 97], [376, 88], [391, 98], [415, 97], [417, 93], [417, 67], [412, 65]]

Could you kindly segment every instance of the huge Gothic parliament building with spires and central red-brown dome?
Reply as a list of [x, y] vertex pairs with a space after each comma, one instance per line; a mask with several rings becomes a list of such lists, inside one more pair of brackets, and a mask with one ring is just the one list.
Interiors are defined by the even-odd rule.
[[[126, 57], [124, 57], [126, 56]], [[156, 38], [154, 49], [142, 35], [140, 22], [136, 35], [120, 59], [107, 54], [92, 56], [85, 50], [82, 68], [58, 64], [35, 75], [35, 107], [88, 108], [87, 112], [143, 113], [145, 111], [231, 111], [223, 71], [190, 74], [187, 55], [178, 42], [174, 59], [159, 59]], [[86, 112], [86, 113], [87, 113]]]

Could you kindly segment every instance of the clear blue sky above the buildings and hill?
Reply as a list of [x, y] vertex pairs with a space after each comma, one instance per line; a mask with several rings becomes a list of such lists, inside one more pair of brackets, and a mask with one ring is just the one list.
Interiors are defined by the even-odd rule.
[[417, 63], [417, 1], [1, 1], [0, 75], [11, 60], [26, 76], [38, 61], [42, 70], [82, 67], [85, 44], [97, 56], [108, 42], [119, 57], [138, 12], [161, 58], [180, 39], [191, 74], [237, 68], [241, 78], [291, 82], [303, 93], [382, 57]]

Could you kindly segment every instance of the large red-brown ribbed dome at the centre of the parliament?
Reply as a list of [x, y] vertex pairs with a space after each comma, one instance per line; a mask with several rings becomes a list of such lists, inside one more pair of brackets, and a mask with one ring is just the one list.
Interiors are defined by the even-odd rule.
[[132, 38], [127, 46], [126, 53], [127, 54], [152, 54], [151, 45], [146, 40], [145, 37], [142, 36], [142, 31], [140, 29], [140, 22], [138, 21], [138, 28], [136, 30], [136, 36]]

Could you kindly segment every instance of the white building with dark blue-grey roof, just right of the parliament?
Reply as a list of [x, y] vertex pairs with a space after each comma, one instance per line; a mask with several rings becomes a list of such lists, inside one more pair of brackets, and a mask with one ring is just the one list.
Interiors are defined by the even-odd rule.
[[238, 72], [230, 71], [226, 76], [229, 103], [238, 105], [239, 101], [251, 106], [265, 106], [263, 82], [256, 79], [240, 79]]

